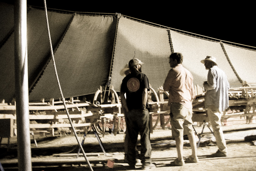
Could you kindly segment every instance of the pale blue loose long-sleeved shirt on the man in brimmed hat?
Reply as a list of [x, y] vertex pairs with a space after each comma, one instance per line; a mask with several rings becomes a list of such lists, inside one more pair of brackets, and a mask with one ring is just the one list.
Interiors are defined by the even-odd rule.
[[229, 82], [224, 71], [218, 66], [209, 69], [207, 84], [205, 84], [205, 107], [214, 105], [219, 111], [229, 107]]

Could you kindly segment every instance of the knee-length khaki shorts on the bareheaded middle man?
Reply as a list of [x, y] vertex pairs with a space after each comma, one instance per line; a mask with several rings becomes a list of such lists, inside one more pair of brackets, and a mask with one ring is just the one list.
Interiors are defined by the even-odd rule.
[[171, 104], [172, 137], [183, 137], [193, 133], [192, 108], [187, 109], [182, 104]]

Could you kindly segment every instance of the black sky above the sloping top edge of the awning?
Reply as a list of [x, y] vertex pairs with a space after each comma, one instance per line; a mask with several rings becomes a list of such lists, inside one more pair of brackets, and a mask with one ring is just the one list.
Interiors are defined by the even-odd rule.
[[[86, 3], [85, 3], [86, 2]], [[27, 0], [43, 6], [43, 0]], [[121, 13], [166, 27], [215, 39], [256, 47], [254, 4], [230, 2], [177, 3], [175, 1], [58, 1], [46, 0], [47, 8], [80, 12]]]

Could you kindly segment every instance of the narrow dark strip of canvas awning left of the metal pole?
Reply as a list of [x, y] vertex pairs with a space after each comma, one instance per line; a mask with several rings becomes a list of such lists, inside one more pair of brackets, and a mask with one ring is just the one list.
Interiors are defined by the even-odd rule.
[[0, 2], [0, 101], [14, 96], [14, 6]]

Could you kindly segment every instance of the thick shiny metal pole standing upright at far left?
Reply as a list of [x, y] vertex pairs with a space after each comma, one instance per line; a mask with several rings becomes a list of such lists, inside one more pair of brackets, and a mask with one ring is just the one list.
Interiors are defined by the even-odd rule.
[[32, 171], [27, 67], [27, 1], [15, 0], [15, 100], [19, 171]]

